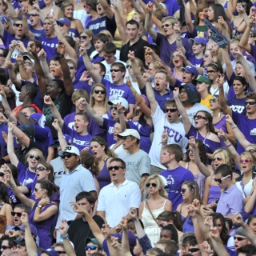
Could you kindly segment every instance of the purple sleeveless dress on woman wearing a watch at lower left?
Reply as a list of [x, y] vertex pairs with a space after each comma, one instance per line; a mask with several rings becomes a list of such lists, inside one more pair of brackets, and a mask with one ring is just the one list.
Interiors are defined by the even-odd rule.
[[[54, 203], [50, 202], [50, 204], [45, 206], [44, 208], [42, 208], [42, 210], [40, 212], [42, 213], [42, 212], [46, 211], [50, 206], [53, 206], [53, 205], [54, 205]], [[30, 224], [33, 224], [38, 230], [39, 247], [46, 250], [46, 249], [50, 248], [50, 246], [51, 246], [50, 230], [52, 228], [54, 228], [54, 226], [56, 224], [55, 217], [56, 217], [56, 215], [58, 215], [58, 213], [50, 216], [50, 218], [47, 218], [46, 220], [44, 220], [42, 222], [34, 222], [34, 220], [33, 220], [34, 212], [37, 209], [37, 206], [38, 206], [38, 202], [36, 202], [34, 204], [34, 207], [30, 212], [29, 222], [30, 222]]]

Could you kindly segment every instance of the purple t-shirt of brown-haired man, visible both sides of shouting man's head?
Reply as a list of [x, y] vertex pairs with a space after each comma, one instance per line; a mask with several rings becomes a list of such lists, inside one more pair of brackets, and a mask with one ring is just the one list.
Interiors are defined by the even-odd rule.
[[[75, 117], [75, 112], [66, 115], [64, 118], [64, 123], [66, 126], [68, 126], [70, 129], [74, 130], [74, 117]], [[94, 121], [93, 118], [90, 118], [89, 125], [87, 127], [88, 133], [91, 134], [92, 136], [97, 136], [100, 134], [104, 134], [104, 130], [98, 126], [98, 123]], [[64, 133], [65, 134], [65, 133]]]

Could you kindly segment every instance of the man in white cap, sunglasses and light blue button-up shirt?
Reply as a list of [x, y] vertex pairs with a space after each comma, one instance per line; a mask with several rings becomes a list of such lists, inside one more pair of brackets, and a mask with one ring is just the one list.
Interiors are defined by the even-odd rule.
[[[58, 152], [58, 155], [63, 159], [67, 171], [62, 175], [59, 182], [60, 205], [56, 225], [57, 230], [62, 219], [70, 221], [76, 217], [76, 213], [74, 213], [72, 206], [70, 206], [70, 202], [75, 201], [76, 194], [82, 191], [90, 192], [95, 200], [97, 200], [93, 175], [89, 170], [80, 165], [80, 152], [78, 148], [76, 146], [66, 146], [65, 150]], [[60, 237], [57, 234], [57, 242], [59, 241]]]

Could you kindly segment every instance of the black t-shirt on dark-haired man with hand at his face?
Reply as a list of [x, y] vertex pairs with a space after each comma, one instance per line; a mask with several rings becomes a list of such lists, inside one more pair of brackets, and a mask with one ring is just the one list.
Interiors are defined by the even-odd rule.
[[[102, 217], [94, 215], [93, 219], [101, 229], [102, 225], [104, 224]], [[68, 234], [70, 237], [70, 241], [74, 243], [74, 249], [77, 256], [85, 256], [85, 238], [94, 238], [94, 234], [90, 230], [88, 222], [84, 222], [82, 218], [74, 220], [74, 222], [70, 224]]]

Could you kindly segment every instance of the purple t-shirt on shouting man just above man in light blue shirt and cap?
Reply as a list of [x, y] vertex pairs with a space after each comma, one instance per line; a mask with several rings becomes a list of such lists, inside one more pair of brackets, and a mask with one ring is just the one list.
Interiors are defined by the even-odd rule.
[[79, 135], [75, 130], [70, 129], [70, 127], [66, 126], [64, 123], [62, 127], [63, 134], [69, 134], [72, 138], [72, 144], [78, 148], [79, 151], [82, 151], [85, 147], [90, 147], [90, 140], [94, 138], [94, 136], [90, 134]]

